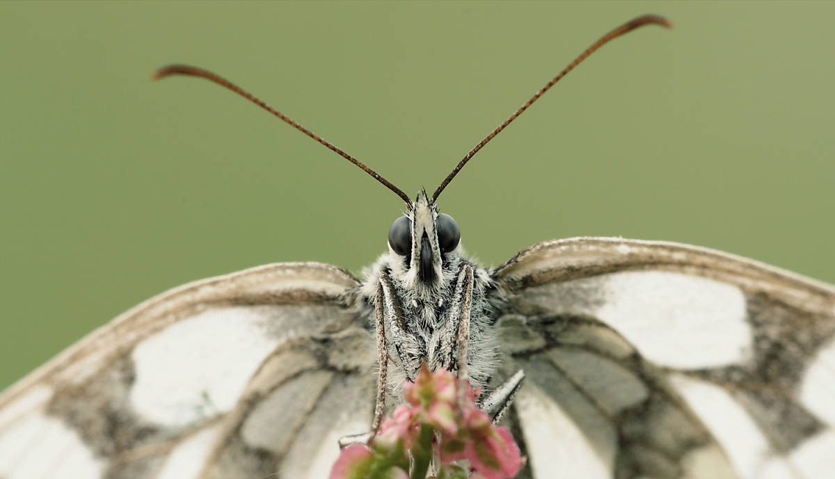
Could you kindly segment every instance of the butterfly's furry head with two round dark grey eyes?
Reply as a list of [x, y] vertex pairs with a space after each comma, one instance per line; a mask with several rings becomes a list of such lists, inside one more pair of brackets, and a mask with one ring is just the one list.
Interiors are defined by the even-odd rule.
[[443, 266], [458, 257], [461, 230], [447, 214], [438, 213], [438, 206], [426, 191], [417, 194], [402, 217], [388, 230], [388, 249], [399, 262], [405, 283], [429, 288], [443, 279]]

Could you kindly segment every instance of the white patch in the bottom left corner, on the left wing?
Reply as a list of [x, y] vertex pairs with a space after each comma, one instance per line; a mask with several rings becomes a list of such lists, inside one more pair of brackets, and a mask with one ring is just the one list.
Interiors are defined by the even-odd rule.
[[[101, 477], [104, 463], [62, 421], [32, 414], [0, 436], [0, 476], [4, 479]], [[58, 472], [60, 471], [60, 472]]]

